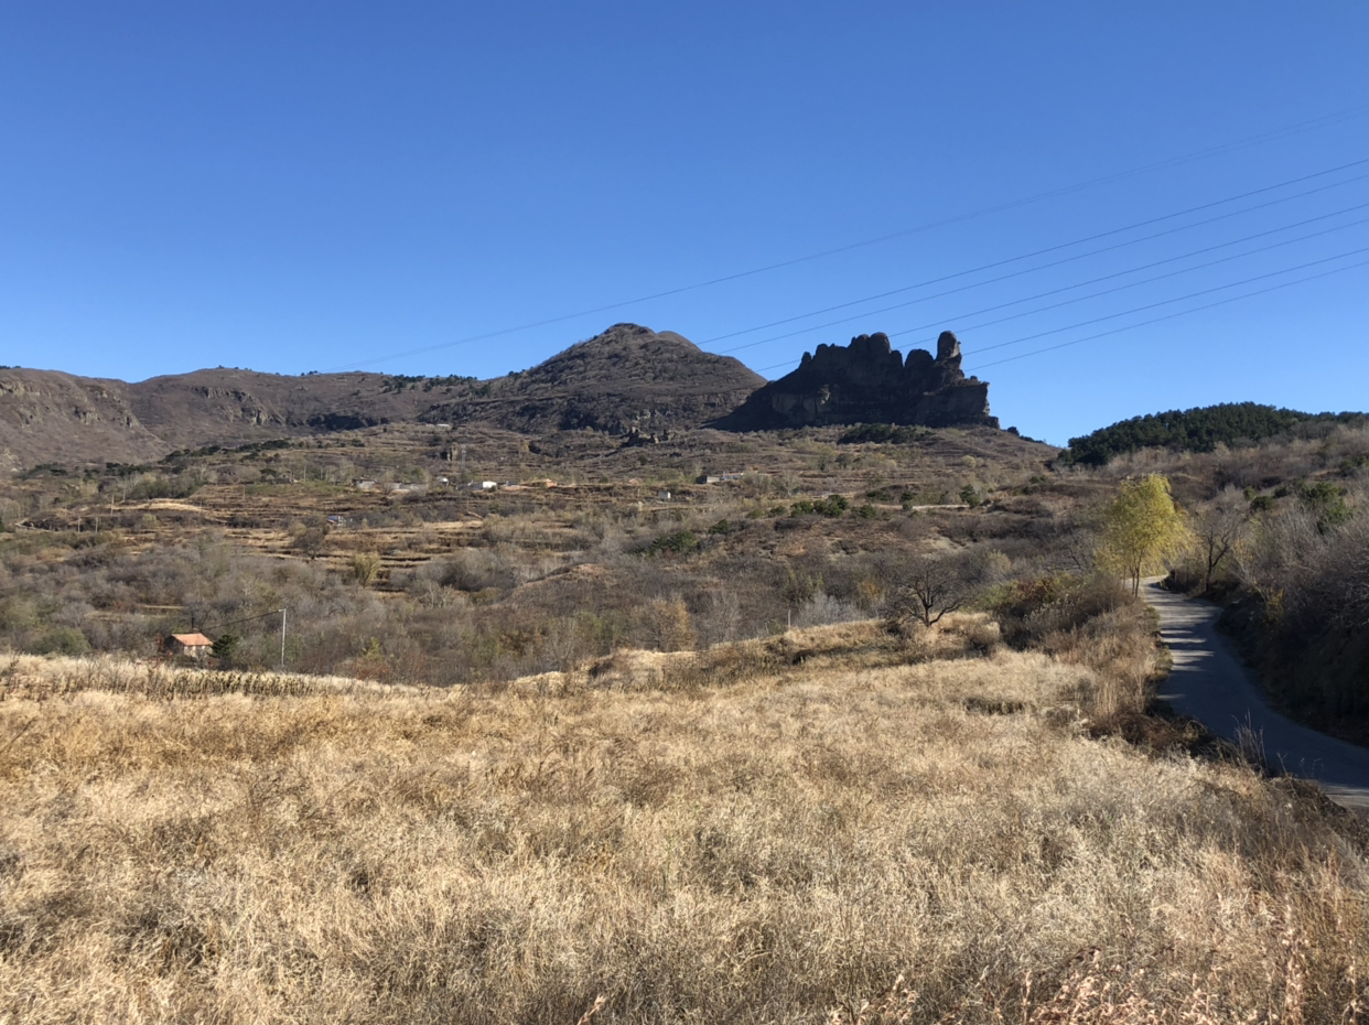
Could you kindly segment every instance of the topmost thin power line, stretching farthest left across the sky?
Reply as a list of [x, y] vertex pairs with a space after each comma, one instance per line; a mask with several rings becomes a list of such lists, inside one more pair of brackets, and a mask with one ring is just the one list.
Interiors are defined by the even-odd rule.
[[[993, 213], [1001, 213], [1003, 211], [1016, 209], [1019, 207], [1027, 207], [1027, 205], [1031, 205], [1031, 204], [1035, 204], [1035, 203], [1042, 203], [1042, 201], [1049, 200], [1049, 198], [1057, 198], [1060, 196], [1069, 196], [1069, 194], [1073, 194], [1076, 192], [1083, 192], [1086, 189], [1097, 187], [1099, 185], [1108, 185], [1108, 183], [1112, 183], [1112, 182], [1124, 181], [1127, 178], [1134, 178], [1134, 177], [1138, 177], [1138, 175], [1142, 175], [1142, 174], [1149, 174], [1151, 171], [1158, 171], [1158, 170], [1164, 170], [1164, 168], [1168, 168], [1168, 167], [1177, 167], [1177, 166], [1184, 164], [1184, 163], [1191, 163], [1194, 160], [1202, 160], [1202, 159], [1206, 159], [1206, 157], [1210, 157], [1210, 156], [1218, 156], [1221, 153], [1232, 152], [1232, 151], [1236, 151], [1236, 149], [1244, 149], [1244, 148], [1249, 148], [1249, 146], [1255, 146], [1255, 145], [1259, 145], [1262, 142], [1277, 141], [1277, 140], [1281, 140], [1281, 138], [1287, 138], [1290, 135], [1301, 134], [1303, 131], [1312, 131], [1314, 129], [1324, 127], [1327, 125], [1336, 125], [1336, 123], [1340, 123], [1340, 122], [1344, 122], [1344, 120], [1353, 120], [1355, 118], [1364, 116], [1366, 112], [1369, 112], [1369, 104], [1361, 104], [1361, 105], [1357, 105], [1357, 107], [1350, 107], [1350, 108], [1338, 111], [1335, 114], [1328, 114], [1328, 115], [1322, 115], [1320, 118], [1313, 118], [1310, 120], [1298, 122], [1298, 123], [1288, 125], [1288, 126], [1284, 126], [1284, 127], [1280, 127], [1280, 129], [1273, 129], [1270, 131], [1258, 133], [1255, 135], [1247, 135], [1244, 138], [1235, 140], [1232, 142], [1224, 142], [1224, 144], [1220, 144], [1220, 145], [1216, 145], [1216, 146], [1209, 146], [1206, 149], [1195, 151], [1192, 153], [1186, 153], [1186, 155], [1180, 155], [1180, 156], [1175, 156], [1175, 157], [1168, 157], [1165, 160], [1158, 160], [1155, 163], [1143, 164], [1140, 167], [1134, 167], [1134, 168], [1127, 170], [1127, 171], [1118, 171], [1118, 172], [1114, 172], [1114, 174], [1110, 174], [1110, 175], [1103, 175], [1101, 178], [1092, 178], [1092, 179], [1088, 179], [1088, 181], [1084, 181], [1084, 182], [1079, 182], [1076, 185], [1065, 186], [1062, 189], [1053, 189], [1050, 192], [1038, 193], [1035, 196], [1028, 196], [1028, 197], [1024, 197], [1024, 198], [1020, 198], [1020, 200], [1012, 200], [1009, 203], [1002, 203], [1002, 204], [997, 204], [997, 205], [993, 205], [993, 207], [984, 207], [984, 208], [980, 208], [977, 211], [971, 211], [968, 213], [956, 215], [953, 218], [945, 218], [942, 220], [928, 222], [928, 223], [924, 223], [924, 224], [919, 224], [916, 227], [904, 229], [901, 231], [894, 231], [894, 233], [890, 233], [890, 234], [886, 234], [886, 235], [879, 235], [879, 237], [875, 237], [875, 238], [867, 238], [867, 239], [861, 239], [858, 242], [850, 242], [847, 245], [836, 246], [836, 248], [832, 248], [832, 249], [823, 249], [820, 252], [808, 253], [808, 255], [804, 255], [804, 256], [797, 256], [797, 257], [793, 257], [790, 260], [780, 260], [778, 263], [771, 263], [771, 264], [765, 264], [765, 265], [761, 265], [761, 267], [753, 267], [753, 268], [746, 270], [746, 271], [738, 271], [738, 272], [727, 274], [727, 275], [723, 275], [723, 276], [719, 276], [719, 278], [711, 278], [708, 281], [695, 282], [693, 285], [683, 285], [683, 286], [679, 286], [679, 287], [667, 289], [664, 291], [652, 293], [649, 296], [639, 296], [639, 297], [631, 298], [631, 300], [623, 300], [623, 301], [619, 301], [619, 302], [609, 302], [609, 304], [605, 304], [605, 305], [601, 305], [601, 307], [594, 307], [594, 308], [590, 308], [590, 309], [582, 309], [582, 311], [578, 311], [575, 313], [563, 313], [560, 316], [553, 316], [553, 317], [546, 317], [543, 320], [535, 320], [535, 322], [530, 322], [530, 323], [526, 323], [526, 324], [519, 324], [517, 327], [507, 327], [507, 328], [502, 328], [502, 330], [498, 330], [498, 331], [486, 331], [483, 334], [470, 335], [467, 338], [457, 338], [457, 339], [450, 341], [450, 342], [439, 342], [437, 345], [428, 345], [428, 346], [423, 346], [423, 348], [419, 348], [419, 349], [409, 349], [407, 352], [400, 352], [400, 353], [390, 353], [387, 356], [382, 356], [382, 357], [378, 357], [378, 359], [374, 359], [374, 360], [366, 360], [366, 361], [360, 361], [360, 363], [349, 363], [349, 364], [345, 364], [345, 365], [341, 365], [341, 367], [331, 367], [331, 368], [326, 369], [324, 372], [327, 372], [327, 374], [335, 374], [335, 372], [340, 372], [340, 371], [356, 369], [359, 367], [370, 367], [370, 365], [375, 365], [376, 363], [385, 363], [386, 360], [404, 359], [404, 357], [408, 357], [408, 356], [420, 356], [423, 353], [438, 352], [441, 349], [450, 349], [450, 348], [455, 348], [455, 346], [459, 346], [459, 345], [470, 345], [471, 342], [487, 341], [487, 339], [491, 339], [491, 338], [501, 338], [501, 337], [505, 337], [505, 335], [509, 335], [509, 334], [516, 334], [519, 331], [530, 331], [530, 330], [537, 328], [537, 327], [548, 327], [550, 324], [564, 323], [567, 320], [574, 320], [574, 319], [580, 317], [580, 316], [590, 316], [593, 313], [604, 313], [604, 312], [608, 312], [611, 309], [622, 309], [623, 307], [631, 307], [631, 305], [637, 305], [639, 302], [649, 302], [649, 301], [658, 300], [658, 298], [667, 298], [669, 296], [679, 296], [679, 294], [686, 293], [686, 291], [694, 291], [694, 290], [698, 290], [698, 289], [706, 289], [706, 287], [712, 287], [715, 285], [723, 285], [723, 283], [727, 283], [727, 282], [739, 281], [742, 278], [750, 278], [750, 276], [754, 276], [754, 275], [758, 275], [758, 274], [767, 274], [769, 271], [783, 270], [786, 267], [794, 267], [794, 265], [798, 265], [801, 263], [809, 263], [812, 260], [820, 260], [820, 259], [824, 259], [824, 257], [828, 257], [828, 256], [836, 256], [839, 253], [852, 252], [854, 249], [862, 249], [862, 248], [867, 248], [867, 246], [879, 245], [880, 242], [888, 242], [888, 241], [893, 241], [895, 238], [905, 238], [908, 235], [919, 234], [919, 233], [923, 233], [923, 231], [931, 231], [931, 230], [938, 229], [938, 227], [947, 227], [950, 224], [964, 223], [967, 220], [973, 220], [973, 219], [988, 216], [988, 215], [993, 215]], [[1357, 161], [1357, 163], [1364, 163], [1364, 161]], [[1270, 187], [1279, 187], [1279, 186], [1270, 186]], [[763, 330], [763, 328], [757, 328], [757, 330]]]

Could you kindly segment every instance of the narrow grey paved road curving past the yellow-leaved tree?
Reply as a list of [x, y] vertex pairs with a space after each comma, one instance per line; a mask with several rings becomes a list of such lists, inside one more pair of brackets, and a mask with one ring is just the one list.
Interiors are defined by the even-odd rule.
[[1301, 727], [1270, 709], [1231, 643], [1217, 632], [1220, 609], [1172, 594], [1147, 580], [1146, 601], [1160, 613], [1160, 631], [1175, 666], [1160, 697], [1181, 716], [1218, 736], [1262, 746], [1265, 760], [1317, 780], [1332, 801], [1369, 816], [1369, 749]]

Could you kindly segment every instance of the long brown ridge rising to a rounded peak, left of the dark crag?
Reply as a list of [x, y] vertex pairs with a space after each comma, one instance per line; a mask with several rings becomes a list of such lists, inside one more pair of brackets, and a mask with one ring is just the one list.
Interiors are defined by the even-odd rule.
[[218, 367], [130, 385], [7, 368], [0, 369], [0, 472], [49, 461], [153, 461], [175, 449], [385, 423], [649, 438], [713, 420], [764, 383], [735, 359], [637, 324], [615, 324], [531, 369], [491, 380]]

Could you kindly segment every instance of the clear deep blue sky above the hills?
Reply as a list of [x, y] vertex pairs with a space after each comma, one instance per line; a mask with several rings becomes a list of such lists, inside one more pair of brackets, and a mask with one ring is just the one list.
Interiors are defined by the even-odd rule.
[[494, 376], [631, 320], [764, 342], [735, 354], [773, 378], [950, 327], [1003, 424], [1055, 442], [1365, 409], [1369, 163], [1332, 168], [1369, 160], [1366, 55], [1359, 0], [7, 4], [0, 363]]

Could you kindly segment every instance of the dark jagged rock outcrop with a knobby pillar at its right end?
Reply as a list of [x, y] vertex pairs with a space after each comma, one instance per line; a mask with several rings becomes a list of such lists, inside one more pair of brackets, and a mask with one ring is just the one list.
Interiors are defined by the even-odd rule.
[[905, 360], [883, 333], [846, 346], [819, 345], [804, 353], [798, 369], [758, 389], [715, 426], [763, 431], [850, 423], [998, 427], [988, 415], [988, 382], [964, 375], [960, 341], [950, 331], [936, 339], [935, 359], [913, 349]]

